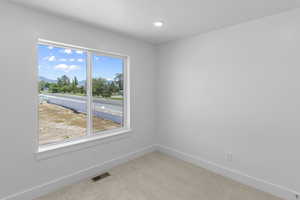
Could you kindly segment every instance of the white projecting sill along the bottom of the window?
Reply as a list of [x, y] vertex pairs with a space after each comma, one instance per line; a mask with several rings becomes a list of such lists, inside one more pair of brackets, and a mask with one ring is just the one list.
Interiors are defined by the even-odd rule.
[[50, 157], [59, 156], [64, 153], [78, 151], [80, 149], [89, 148], [101, 143], [108, 143], [123, 139], [124, 137], [127, 137], [130, 132], [131, 129], [121, 129], [118, 131], [114, 130], [113, 132], [107, 131], [105, 133], [100, 133], [99, 135], [84, 137], [78, 140], [43, 145], [38, 148], [37, 152], [35, 153], [35, 157], [37, 160], [43, 160]]

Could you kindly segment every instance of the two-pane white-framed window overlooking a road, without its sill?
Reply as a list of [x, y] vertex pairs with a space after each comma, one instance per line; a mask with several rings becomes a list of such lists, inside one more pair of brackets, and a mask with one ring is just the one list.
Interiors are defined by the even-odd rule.
[[39, 145], [129, 129], [127, 57], [40, 40]]

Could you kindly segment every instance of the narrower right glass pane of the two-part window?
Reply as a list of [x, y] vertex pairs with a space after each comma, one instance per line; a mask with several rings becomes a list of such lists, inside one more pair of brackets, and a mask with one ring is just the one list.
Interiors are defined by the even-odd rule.
[[93, 133], [123, 126], [123, 60], [92, 56]]

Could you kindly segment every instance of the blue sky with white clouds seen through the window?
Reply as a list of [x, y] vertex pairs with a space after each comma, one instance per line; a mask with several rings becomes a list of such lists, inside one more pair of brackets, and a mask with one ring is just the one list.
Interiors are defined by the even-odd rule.
[[[57, 80], [62, 75], [69, 78], [77, 77], [79, 81], [86, 79], [85, 52], [59, 48], [47, 45], [38, 45], [39, 76]], [[123, 60], [107, 56], [93, 55], [93, 77], [102, 77], [112, 80], [116, 73], [122, 73]]]

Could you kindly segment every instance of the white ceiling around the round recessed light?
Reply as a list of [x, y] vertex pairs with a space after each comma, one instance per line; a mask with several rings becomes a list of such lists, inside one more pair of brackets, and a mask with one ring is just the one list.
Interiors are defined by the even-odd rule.
[[[10, 0], [159, 44], [298, 7], [299, 0]], [[153, 27], [156, 20], [165, 22]]]

